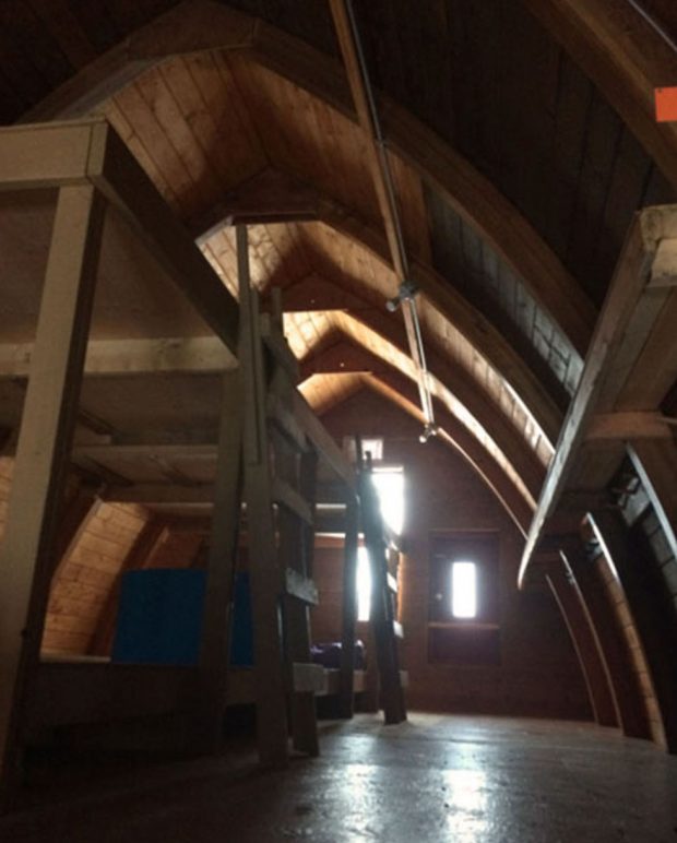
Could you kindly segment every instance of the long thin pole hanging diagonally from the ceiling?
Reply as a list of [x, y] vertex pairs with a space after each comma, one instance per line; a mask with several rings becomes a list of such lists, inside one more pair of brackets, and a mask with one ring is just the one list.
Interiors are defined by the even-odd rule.
[[369, 80], [369, 72], [359, 28], [355, 19], [352, 0], [330, 0], [332, 16], [343, 61], [348, 78], [348, 84], [353, 94], [357, 120], [361, 130], [367, 135], [369, 143], [369, 158], [373, 176], [379, 207], [383, 216], [385, 236], [390, 248], [390, 254], [397, 276], [397, 295], [388, 302], [389, 310], [402, 308], [404, 325], [406, 329], [409, 354], [417, 375], [420, 408], [425, 419], [423, 442], [437, 432], [432, 396], [430, 394], [429, 375], [426, 366], [426, 353], [420, 333], [418, 311], [416, 309], [416, 285], [411, 280], [409, 264], [402, 234], [402, 224], [397, 210], [395, 187], [388, 157], [385, 140], [381, 131], [379, 114], [373, 97], [373, 90]]

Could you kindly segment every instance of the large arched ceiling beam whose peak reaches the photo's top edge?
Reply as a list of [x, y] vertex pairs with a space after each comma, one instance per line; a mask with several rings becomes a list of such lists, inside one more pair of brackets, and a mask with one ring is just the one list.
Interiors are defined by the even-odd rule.
[[[356, 120], [343, 67], [276, 27], [210, 0], [186, 0], [99, 57], [24, 116], [74, 117], [171, 56], [241, 50]], [[390, 147], [433, 185], [524, 280], [531, 295], [584, 355], [594, 307], [518, 210], [472, 165], [404, 108], [382, 98]], [[447, 313], [452, 321], [453, 311]]]

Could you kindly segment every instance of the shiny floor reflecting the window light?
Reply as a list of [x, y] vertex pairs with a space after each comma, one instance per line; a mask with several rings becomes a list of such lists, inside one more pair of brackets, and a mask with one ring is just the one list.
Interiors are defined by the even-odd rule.
[[669, 841], [677, 758], [586, 724], [414, 713], [324, 723], [322, 757], [254, 773], [253, 745], [201, 760], [43, 760], [22, 843]]

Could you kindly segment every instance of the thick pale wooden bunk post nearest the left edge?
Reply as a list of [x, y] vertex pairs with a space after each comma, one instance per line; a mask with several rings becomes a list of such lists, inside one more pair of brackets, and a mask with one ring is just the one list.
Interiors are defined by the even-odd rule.
[[37, 668], [55, 568], [103, 218], [104, 204], [93, 187], [59, 190], [0, 555], [0, 795], [4, 808], [20, 779], [21, 712]]

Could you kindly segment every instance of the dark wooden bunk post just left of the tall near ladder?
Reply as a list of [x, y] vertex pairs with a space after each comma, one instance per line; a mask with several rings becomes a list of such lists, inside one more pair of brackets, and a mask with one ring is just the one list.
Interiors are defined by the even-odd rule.
[[242, 381], [236, 369], [224, 375], [218, 458], [206, 596], [200, 651], [201, 699], [198, 739], [207, 751], [221, 746], [230, 655], [233, 592], [242, 494]]

